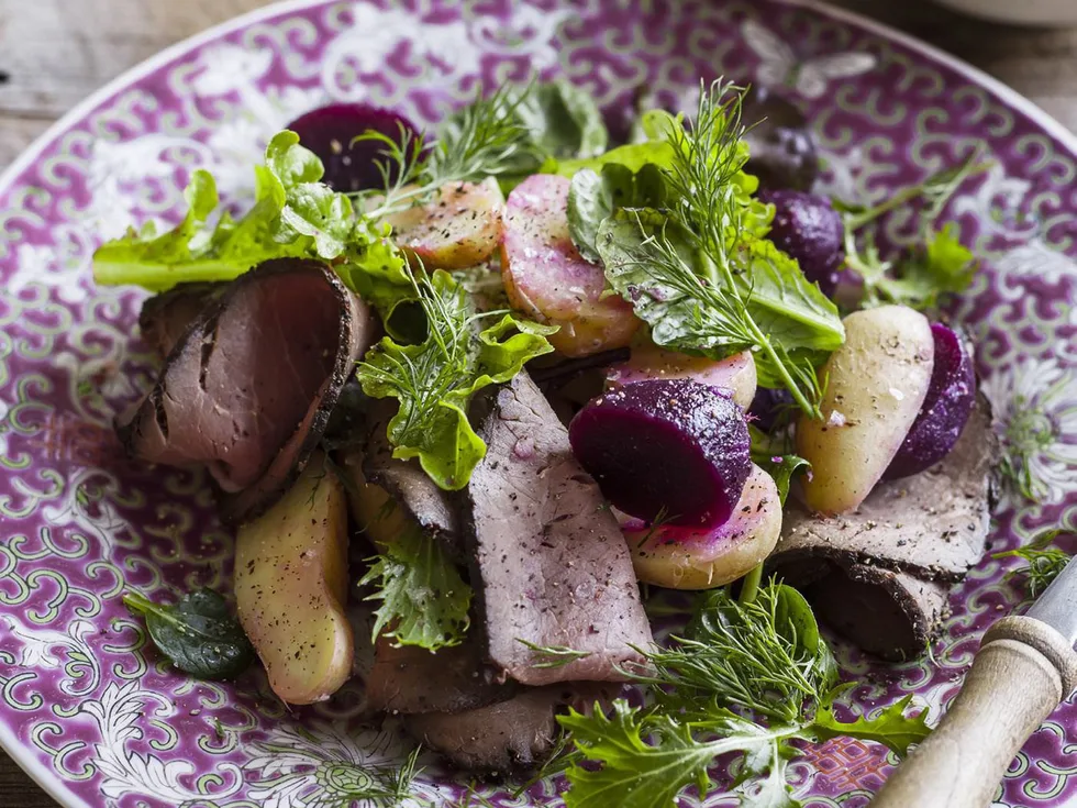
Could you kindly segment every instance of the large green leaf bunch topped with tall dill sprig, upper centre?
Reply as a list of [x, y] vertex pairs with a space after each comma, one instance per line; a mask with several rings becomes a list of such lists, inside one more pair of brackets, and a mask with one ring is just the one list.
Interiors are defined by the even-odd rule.
[[687, 128], [652, 115], [648, 134], [665, 140], [668, 159], [574, 178], [570, 230], [657, 344], [713, 358], [752, 350], [759, 384], [788, 389], [818, 417], [815, 367], [844, 329], [834, 303], [765, 239], [774, 209], [752, 197], [757, 181], [744, 173], [743, 98], [718, 81]]

